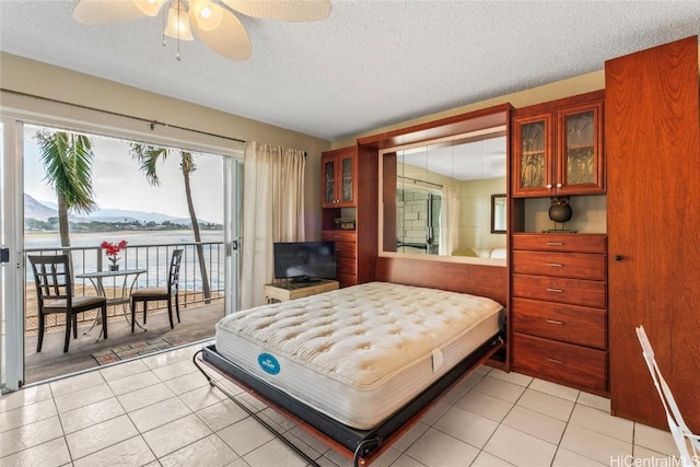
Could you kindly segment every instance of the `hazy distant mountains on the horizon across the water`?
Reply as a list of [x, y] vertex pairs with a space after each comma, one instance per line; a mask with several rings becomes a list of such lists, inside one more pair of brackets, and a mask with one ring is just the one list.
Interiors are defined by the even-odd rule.
[[[46, 221], [58, 217], [58, 205], [51, 201], [37, 201], [32, 196], [24, 194], [24, 217]], [[130, 211], [125, 209], [97, 209], [86, 217], [68, 215], [71, 222], [155, 222], [158, 224], [170, 221], [175, 224], [189, 224], [189, 218], [174, 218], [160, 212]], [[207, 222], [202, 219], [199, 222]]]

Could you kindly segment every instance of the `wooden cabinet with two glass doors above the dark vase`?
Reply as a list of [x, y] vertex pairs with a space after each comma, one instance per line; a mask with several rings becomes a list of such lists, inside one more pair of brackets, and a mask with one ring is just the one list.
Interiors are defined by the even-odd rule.
[[514, 197], [605, 192], [604, 93], [516, 109]]

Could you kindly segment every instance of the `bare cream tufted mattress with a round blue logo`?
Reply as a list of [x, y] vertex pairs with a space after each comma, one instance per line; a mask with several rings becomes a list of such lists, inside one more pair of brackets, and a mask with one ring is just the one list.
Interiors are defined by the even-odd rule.
[[499, 332], [487, 297], [371, 282], [229, 315], [217, 351], [301, 402], [368, 430]]

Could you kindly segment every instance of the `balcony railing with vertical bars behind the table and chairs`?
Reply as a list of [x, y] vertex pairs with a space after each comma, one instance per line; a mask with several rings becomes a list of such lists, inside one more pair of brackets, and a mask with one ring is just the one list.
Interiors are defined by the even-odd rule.
[[[199, 267], [197, 245], [201, 245], [205, 267], [207, 272], [207, 283], [209, 284], [209, 296], [205, 296], [203, 281]], [[192, 306], [201, 303], [222, 301], [224, 297], [224, 248], [223, 242], [192, 242], [192, 243], [170, 243], [133, 245], [119, 252], [119, 267], [121, 269], [145, 269], [147, 272], [138, 276], [133, 288], [143, 287], [165, 287], [167, 284], [167, 273], [171, 264], [171, 256], [174, 249], [182, 248], [183, 260], [179, 270], [178, 297], [180, 307]], [[104, 253], [98, 246], [91, 247], [50, 247], [50, 248], [26, 248], [26, 255], [58, 255], [70, 252], [72, 259], [73, 283], [75, 295], [96, 295], [97, 292], [89, 279], [75, 279], [75, 276], [95, 272], [107, 269]], [[129, 283], [130, 284], [129, 279]], [[104, 288], [107, 296], [118, 296], [121, 293], [124, 278], [112, 278], [104, 280]], [[26, 261], [25, 278], [25, 335], [35, 335], [38, 330], [38, 318], [36, 307], [36, 288], [32, 266]], [[128, 306], [128, 305], [126, 305]], [[166, 302], [159, 302], [156, 306], [149, 305], [149, 314], [159, 313], [166, 310]], [[78, 315], [78, 325], [90, 324], [96, 316], [96, 311], [81, 313]], [[121, 316], [122, 305], [113, 305], [107, 310], [107, 315]], [[46, 331], [65, 330], [65, 317], [60, 314], [51, 314], [46, 317]]]

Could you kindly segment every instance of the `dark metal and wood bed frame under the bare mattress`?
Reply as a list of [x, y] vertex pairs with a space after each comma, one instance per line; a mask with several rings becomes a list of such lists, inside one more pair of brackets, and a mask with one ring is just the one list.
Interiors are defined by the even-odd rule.
[[303, 453], [292, 442], [278, 433], [255, 412], [245, 407], [245, 405], [236, 400], [234, 396], [225, 389], [225, 387], [222, 387], [218, 383], [217, 380], [209, 376], [209, 374], [207, 374], [203, 367], [199, 364], [197, 355], [201, 353], [201, 362], [223, 374], [226, 378], [242, 386], [272, 409], [294, 421], [314, 437], [324, 442], [328, 447], [339, 452], [348, 458], [352, 458], [354, 466], [364, 466], [369, 465], [387, 447], [389, 447], [395, 440], [400, 437], [400, 435], [402, 435], [410, 427], [418, 422], [424, 411], [428, 410], [432, 402], [435, 401], [435, 399], [438, 399], [443, 393], [493, 355], [493, 353], [503, 346], [503, 335], [504, 330], [501, 330], [497, 335], [492, 336], [477, 350], [452, 367], [440, 380], [371, 430], [357, 430], [350, 428], [312, 409], [287, 393], [269, 385], [257, 376], [247, 373], [241, 366], [221, 355], [217, 351], [214, 345], [207, 346], [201, 351], [197, 352], [194, 355], [192, 361], [197, 369], [209, 381], [211, 386], [222, 390], [226, 396], [229, 396], [229, 398], [236, 402], [264, 427], [270, 430], [275, 436], [290, 446], [310, 465], [317, 466], [318, 464]]

